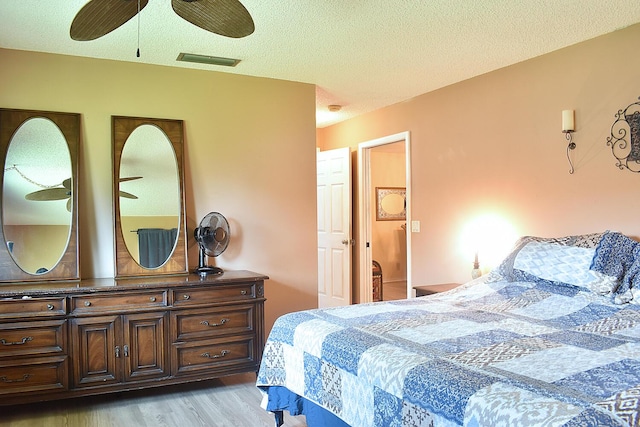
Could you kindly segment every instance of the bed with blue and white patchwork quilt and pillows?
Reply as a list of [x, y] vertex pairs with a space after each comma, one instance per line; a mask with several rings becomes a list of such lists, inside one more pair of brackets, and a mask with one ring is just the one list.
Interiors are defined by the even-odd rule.
[[523, 237], [448, 292], [281, 316], [263, 407], [277, 425], [640, 425], [636, 289], [627, 236]]

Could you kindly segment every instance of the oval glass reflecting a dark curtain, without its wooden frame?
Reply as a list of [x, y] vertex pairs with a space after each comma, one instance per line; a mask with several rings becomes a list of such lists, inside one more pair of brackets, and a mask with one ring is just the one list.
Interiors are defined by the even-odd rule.
[[120, 222], [127, 250], [144, 268], [171, 256], [180, 225], [178, 166], [171, 141], [155, 125], [138, 126], [120, 157]]

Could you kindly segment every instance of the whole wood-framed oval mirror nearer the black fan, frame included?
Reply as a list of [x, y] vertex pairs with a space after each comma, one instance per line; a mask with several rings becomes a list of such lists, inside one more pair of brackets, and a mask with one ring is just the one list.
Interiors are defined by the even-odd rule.
[[187, 273], [182, 121], [112, 126], [116, 277]]

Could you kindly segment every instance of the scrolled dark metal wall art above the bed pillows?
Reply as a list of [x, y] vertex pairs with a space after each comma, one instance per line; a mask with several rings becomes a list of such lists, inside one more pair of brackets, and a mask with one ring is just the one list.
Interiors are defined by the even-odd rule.
[[[640, 97], [638, 98], [640, 100]], [[630, 104], [624, 110], [618, 110], [616, 121], [611, 125], [611, 136], [607, 137], [607, 146], [611, 147], [617, 159], [616, 166], [621, 170], [640, 172], [640, 101]]]

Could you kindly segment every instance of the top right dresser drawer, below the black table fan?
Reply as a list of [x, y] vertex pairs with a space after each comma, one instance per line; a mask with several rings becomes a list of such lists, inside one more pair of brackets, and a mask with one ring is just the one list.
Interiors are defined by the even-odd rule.
[[182, 288], [173, 290], [173, 305], [196, 306], [219, 302], [242, 301], [256, 298], [255, 283], [207, 288]]

